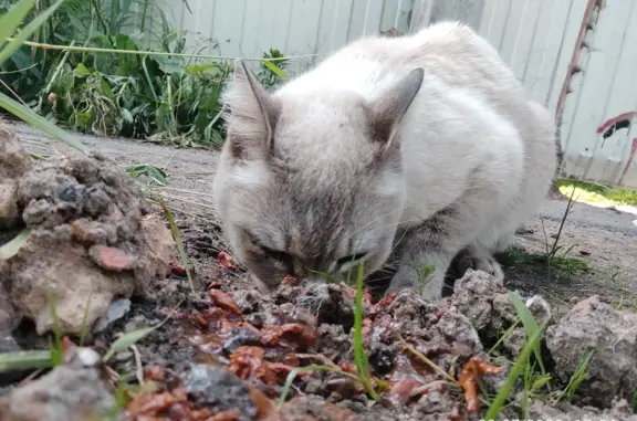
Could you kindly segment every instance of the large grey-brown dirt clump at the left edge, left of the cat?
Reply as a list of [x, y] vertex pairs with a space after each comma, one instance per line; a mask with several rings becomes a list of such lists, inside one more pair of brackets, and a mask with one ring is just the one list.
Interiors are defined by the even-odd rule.
[[[130, 177], [100, 156], [31, 159], [0, 129], [0, 242], [28, 234], [0, 261], [0, 328], [23, 317], [50, 330], [55, 297], [63, 333], [80, 334], [115, 297], [144, 295], [169, 272], [175, 243]], [[24, 231], [29, 230], [29, 231]]]

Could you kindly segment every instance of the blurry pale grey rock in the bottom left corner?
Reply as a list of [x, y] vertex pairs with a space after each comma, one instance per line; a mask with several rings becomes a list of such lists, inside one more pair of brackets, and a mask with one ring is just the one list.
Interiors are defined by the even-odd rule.
[[114, 409], [116, 401], [97, 370], [76, 365], [59, 366], [0, 400], [0, 418], [7, 421], [100, 419], [94, 417]]

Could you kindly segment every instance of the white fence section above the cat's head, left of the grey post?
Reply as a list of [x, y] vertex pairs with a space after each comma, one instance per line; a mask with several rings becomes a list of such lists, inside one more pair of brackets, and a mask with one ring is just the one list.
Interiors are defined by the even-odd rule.
[[[417, 1], [416, 4], [421, 1]], [[163, 0], [177, 29], [219, 43], [208, 53], [261, 56], [270, 48], [286, 55], [325, 54], [364, 34], [409, 29], [414, 0]]]

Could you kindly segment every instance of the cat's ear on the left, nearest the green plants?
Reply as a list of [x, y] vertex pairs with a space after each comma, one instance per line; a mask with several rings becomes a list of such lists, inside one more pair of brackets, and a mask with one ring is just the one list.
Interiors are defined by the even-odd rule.
[[232, 86], [226, 93], [230, 107], [228, 141], [236, 158], [265, 157], [272, 147], [280, 105], [243, 61], [234, 61]]

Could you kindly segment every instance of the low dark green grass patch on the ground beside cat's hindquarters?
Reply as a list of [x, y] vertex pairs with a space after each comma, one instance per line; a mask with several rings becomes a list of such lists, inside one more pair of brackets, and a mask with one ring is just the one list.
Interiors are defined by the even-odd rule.
[[541, 253], [531, 253], [518, 245], [510, 246], [504, 252], [503, 257], [503, 263], [510, 267], [545, 265], [555, 274], [562, 276], [573, 276], [579, 273], [591, 272], [591, 265], [582, 259], [566, 255], [550, 256]]

